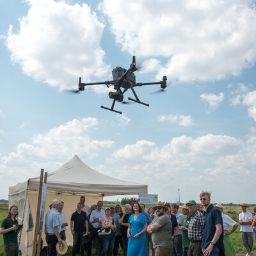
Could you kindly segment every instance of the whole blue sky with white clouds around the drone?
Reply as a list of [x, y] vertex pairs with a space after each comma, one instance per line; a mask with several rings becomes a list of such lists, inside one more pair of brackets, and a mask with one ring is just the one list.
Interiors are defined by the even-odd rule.
[[[1, 1], [0, 198], [75, 154], [159, 200], [255, 203], [255, 1]], [[111, 107], [136, 56], [140, 104]], [[132, 97], [131, 92], [125, 93]], [[86, 179], [86, 177], [84, 178]]]

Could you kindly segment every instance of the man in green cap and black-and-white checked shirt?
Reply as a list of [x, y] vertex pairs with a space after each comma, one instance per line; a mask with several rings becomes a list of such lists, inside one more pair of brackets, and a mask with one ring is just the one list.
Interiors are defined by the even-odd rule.
[[190, 240], [188, 256], [203, 256], [201, 244], [204, 230], [204, 214], [197, 211], [195, 200], [188, 203], [191, 220], [188, 226], [188, 239]]

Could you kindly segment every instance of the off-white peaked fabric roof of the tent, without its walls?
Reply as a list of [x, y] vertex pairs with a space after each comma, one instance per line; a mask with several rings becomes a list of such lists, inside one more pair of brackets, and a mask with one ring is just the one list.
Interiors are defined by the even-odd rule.
[[[29, 190], [38, 190], [40, 177], [29, 179], [9, 188], [13, 195]], [[58, 170], [48, 173], [47, 191], [60, 191], [62, 193], [90, 193], [91, 195], [136, 195], [147, 193], [147, 185], [118, 180], [99, 173], [79, 159], [72, 157]]]

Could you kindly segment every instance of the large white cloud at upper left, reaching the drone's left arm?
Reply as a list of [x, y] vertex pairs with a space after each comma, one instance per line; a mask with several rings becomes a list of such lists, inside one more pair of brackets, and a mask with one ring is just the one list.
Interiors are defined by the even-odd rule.
[[6, 45], [12, 60], [28, 76], [61, 90], [108, 77], [109, 65], [100, 48], [104, 24], [87, 4], [69, 5], [64, 1], [28, 0], [30, 9], [20, 19], [19, 33], [12, 26]]

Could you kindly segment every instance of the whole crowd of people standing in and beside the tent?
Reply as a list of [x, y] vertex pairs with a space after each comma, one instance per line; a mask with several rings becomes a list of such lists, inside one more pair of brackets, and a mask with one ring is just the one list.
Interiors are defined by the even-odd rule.
[[[234, 256], [236, 249], [230, 235], [240, 225], [241, 239], [246, 256], [252, 255], [253, 232], [256, 240], [256, 207], [254, 217], [242, 204], [239, 223], [223, 214], [221, 204], [211, 204], [211, 193], [200, 193], [200, 204], [189, 200], [179, 212], [178, 204], [158, 202], [145, 211], [144, 204], [131, 202], [110, 205], [102, 209], [103, 202], [88, 207], [81, 196], [77, 208], [70, 218], [73, 235], [72, 255], [92, 255], [92, 247], [97, 256], [116, 256], [122, 248], [125, 256], [148, 256], [150, 247], [153, 256]], [[56, 256], [56, 244], [66, 239], [68, 221], [63, 212], [64, 202], [52, 201], [50, 211], [45, 215], [45, 240], [47, 255]], [[4, 218], [0, 234], [4, 238], [7, 256], [18, 255], [17, 243], [18, 208], [13, 205]]]

